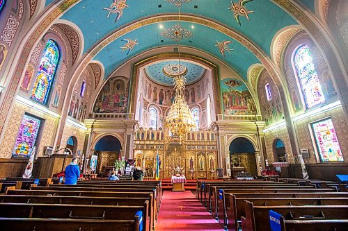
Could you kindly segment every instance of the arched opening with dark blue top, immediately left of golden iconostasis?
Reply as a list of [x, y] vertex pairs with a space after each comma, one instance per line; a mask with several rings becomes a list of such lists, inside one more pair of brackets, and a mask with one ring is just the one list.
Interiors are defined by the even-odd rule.
[[121, 148], [120, 140], [113, 135], [100, 138], [94, 147], [95, 154], [98, 156], [96, 172], [100, 175], [109, 173], [120, 157]]

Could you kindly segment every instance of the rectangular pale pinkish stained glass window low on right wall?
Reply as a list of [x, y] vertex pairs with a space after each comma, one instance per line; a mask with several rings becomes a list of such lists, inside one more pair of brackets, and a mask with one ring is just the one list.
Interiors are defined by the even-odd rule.
[[322, 162], [343, 161], [332, 120], [323, 119], [322, 121], [312, 123], [312, 129], [320, 160]]

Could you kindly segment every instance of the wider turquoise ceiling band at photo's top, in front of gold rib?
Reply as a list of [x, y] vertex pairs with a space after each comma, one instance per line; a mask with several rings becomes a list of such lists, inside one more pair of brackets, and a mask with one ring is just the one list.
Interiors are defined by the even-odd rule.
[[[170, 15], [178, 12], [178, 8], [168, 1], [128, 0], [126, 1], [127, 7], [122, 10], [122, 16], [115, 22], [116, 14], [107, 17], [109, 12], [104, 10], [104, 8], [109, 8], [111, 3], [113, 3], [112, 0], [79, 1], [61, 17], [74, 22], [81, 28], [85, 37], [85, 52], [103, 37], [122, 28], [122, 25], [132, 24], [147, 17], [155, 17], [155, 15]], [[226, 25], [232, 30], [239, 31], [242, 35], [253, 40], [255, 44], [258, 44], [268, 55], [270, 54], [269, 47], [273, 35], [280, 28], [297, 24], [293, 17], [271, 1], [252, 1], [245, 6], [253, 13], [248, 15], [250, 21], [246, 17], [240, 17], [240, 26], [234, 19], [232, 10], [229, 9], [231, 7], [230, 1], [226, 0], [188, 1], [182, 4], [180, 11], [183, 15], [190, 14], [205, 17]], [[86, 15], [86, 17], [81, 17], [81, 15]], [[148, 37], [150, 39], [151, 34], [148, 34]], [[204, 41], [201, 42], [204, 43]]]

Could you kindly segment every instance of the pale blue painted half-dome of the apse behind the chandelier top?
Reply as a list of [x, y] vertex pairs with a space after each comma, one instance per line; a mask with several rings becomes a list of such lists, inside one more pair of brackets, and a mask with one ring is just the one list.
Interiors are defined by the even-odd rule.
[[[157, 62], [155, 64], [149, 65], [148, 67], [145, 67], [145, 71], [148, 77], [151, 80], [155, 81], [156, 83], [159, 83], [161, 85], [173, 86], [173, 78], [166, 76], [163, 73], [163, 68], [166, 65], [177, 64], [177, 63], [178, 63], [177, 59], [164, 60], [162, 62]], [[205, 73], [205, 69], [203, 67], [196, 65], [192, 62], [186, 62], [186, 61], [180, 60], [180, 65], [187, 67], [187, 74], [185, 75], [187, 84], [196, 82]]]

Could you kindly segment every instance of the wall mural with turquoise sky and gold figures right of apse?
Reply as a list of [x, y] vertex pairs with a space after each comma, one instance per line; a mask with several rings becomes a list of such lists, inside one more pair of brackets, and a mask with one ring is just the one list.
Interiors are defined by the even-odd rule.
[[246, 85], [235, 78], [221, 80], [224, 114], [256, 114], [253, 97]]

